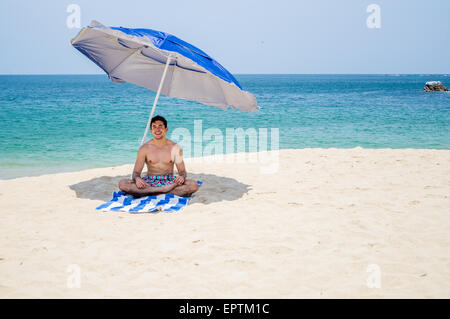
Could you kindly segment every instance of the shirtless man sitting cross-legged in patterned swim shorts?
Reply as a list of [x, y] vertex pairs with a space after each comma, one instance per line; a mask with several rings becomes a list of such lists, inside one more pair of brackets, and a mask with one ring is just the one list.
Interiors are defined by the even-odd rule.
[[[190, 196], [198, 190], [196, 181], [186, 179], [183, 151], [180, 146], [166, 138], [167, 121], [155, 116], [150, 122], [153, 139], [143, 144], [138, 151], [133, 169], [133, 179], [123, 179], [119, 188], [134, 197], [170, 193], [178, 196]], [[141, 172], [147, 164], [147, 176], [141, 178]], [[178, 176], [173, 175], [173, 166], [177, 166]]]

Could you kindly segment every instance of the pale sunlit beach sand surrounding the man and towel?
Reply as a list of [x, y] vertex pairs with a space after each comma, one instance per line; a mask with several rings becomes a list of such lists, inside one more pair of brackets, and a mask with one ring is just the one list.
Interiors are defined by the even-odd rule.
[[138, 215], [94, 210], [132, 165], [3, 180], [0, 297], [449, 298], [449, 164], [361, 148], [283, 150], [277, 174], [190, 163], [191, 205]]

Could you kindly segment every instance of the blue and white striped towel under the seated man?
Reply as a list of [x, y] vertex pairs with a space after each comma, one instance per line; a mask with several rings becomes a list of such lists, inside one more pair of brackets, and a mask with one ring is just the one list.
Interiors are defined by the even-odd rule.
[[[203, 182], [197, 181], [201, 186]], [[113, 198], [96, 209], [101, 211], [123, 211], [129, 213], [176, 212], [184, 208], [192, 200], [191, 197], [180, 197], [173, 194], [161, 194], [135, 198], [122, 191], [114, 192]]]

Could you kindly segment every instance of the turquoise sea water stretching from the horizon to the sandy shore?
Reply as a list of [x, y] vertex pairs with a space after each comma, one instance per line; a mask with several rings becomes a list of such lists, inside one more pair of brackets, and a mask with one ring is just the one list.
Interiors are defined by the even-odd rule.
[[[170, 132], [279, 128], [280, 148], [450, 149], [446, 75], [237, 75], [260, 112], [161, 96]], [[0, 76], [0, 178], [134, 163], [155, 93], [106, 75]]]

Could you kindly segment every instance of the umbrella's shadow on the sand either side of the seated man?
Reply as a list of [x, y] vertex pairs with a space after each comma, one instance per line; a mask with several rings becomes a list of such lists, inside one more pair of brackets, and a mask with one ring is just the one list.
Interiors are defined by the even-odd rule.
[[[69, 188], [75, 191], [77, 198], [107, 202], [111, 200], [112, 193], [119, 190], [119, 181], [129, 177], [130, 175], [101, 176], [69, 185]], [[203, 182], [200, 189], [192, 196], [191, 203], [211, 204], [224, 200], [233, 201], [241, 198], [251, 189], [250, 185], [234, 178], [214, 174], [189, 174], [188, 178]]]

